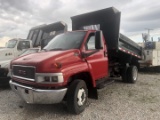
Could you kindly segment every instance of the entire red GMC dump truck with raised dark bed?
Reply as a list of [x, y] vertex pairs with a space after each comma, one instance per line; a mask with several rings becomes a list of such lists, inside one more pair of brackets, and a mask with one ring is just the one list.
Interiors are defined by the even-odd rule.
[[137, 81], [141, 47], [119, 33], [120, 12], [113, 7], [71, 19], [73, 31], [54, 37], [42, 52], [12, 61], [10, 86], [27, 103], [65, 101], [79, 114], [111, 79]]

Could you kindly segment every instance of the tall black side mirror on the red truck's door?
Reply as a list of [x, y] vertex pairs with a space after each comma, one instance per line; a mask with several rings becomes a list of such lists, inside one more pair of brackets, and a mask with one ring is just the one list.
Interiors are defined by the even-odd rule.
[[96, 31], [95, 33], [95, 48], [102, 49], [102, 33], [101, 31]]

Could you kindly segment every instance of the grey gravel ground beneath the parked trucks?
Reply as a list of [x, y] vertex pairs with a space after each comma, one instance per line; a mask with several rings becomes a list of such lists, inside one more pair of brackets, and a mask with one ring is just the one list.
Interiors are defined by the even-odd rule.
[[136, 84], [117, 80], [89, 99], [80, 115], [63, 104], [26, 104], [9, 88], [0, 88], [0, 120], [160, 120], [160, 74], [140, 73]]

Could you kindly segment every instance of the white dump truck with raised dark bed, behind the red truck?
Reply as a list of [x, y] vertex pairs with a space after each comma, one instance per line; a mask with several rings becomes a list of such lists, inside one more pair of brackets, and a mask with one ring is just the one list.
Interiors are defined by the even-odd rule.
[[67, 24], [60, 21], [44, 24], [30, 29], [27, 39], [14, 38], [8, 41], [5, 48], [0, 49], [0, 86], [9, 85], [10, 61], [17, 58], [28, 48], [43, 48], [60, 33], [67, 31]]

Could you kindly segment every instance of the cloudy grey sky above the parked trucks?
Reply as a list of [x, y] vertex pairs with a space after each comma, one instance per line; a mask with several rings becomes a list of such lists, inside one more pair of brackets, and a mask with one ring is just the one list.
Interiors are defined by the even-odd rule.
[[64, 21], [71, 30], [70, 17], [115, 7], [121, 11], [120, 32], [135, 42], [150, 30], [160, 37], [158, 0], [0, 0], [0, 47], [12, 38], [26, 38], [29, 30], [41, 24]]

